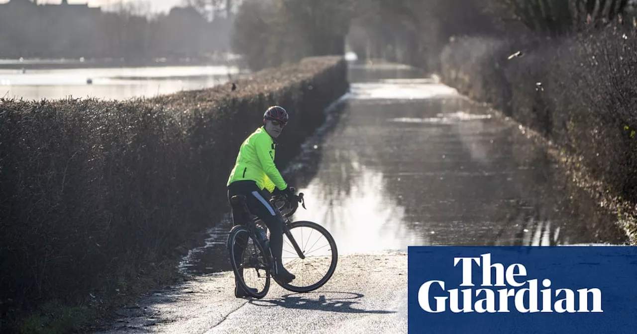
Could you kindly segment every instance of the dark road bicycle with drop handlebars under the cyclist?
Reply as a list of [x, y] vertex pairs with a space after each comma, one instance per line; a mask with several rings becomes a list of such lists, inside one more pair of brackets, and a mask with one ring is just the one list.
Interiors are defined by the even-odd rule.
[[[306, 209], [303, 193], [299, 193], [299, 195], [297, 195], [297, 201], [303, 205], [304, 209]], [[248, 209], [248, 205], [245, 202], [245, 196], [233, 196], [231, 198], [231, 202], [233, 202], [233, 204], [242, 204], [243, 209], [248, 213], [248, 217], [251, 218], [248, 219], [249, 221], [245, 225], [233, 226], [228, 235], [226, 244], [229, 249], [233, 272], [235, 277], [238, 277], [237, 282], [243, 289], [245, 289], [248, 295], [259, 299], [266, 296], [270, 287], [270, 277], [272, 277], [277, 284], [282, 286], [282, 288], [297, 293], [313, 291], [329, 281], [334, 274], [334, 270], [336, 270], [336, 263], [338, 262], [336, 242], [326, 228], [314, 223], [313, 221], [290, 221], [290, 216], [292, 216], [299, 207], [298, 203], [292, 204], [284, 196], [273, 197], [270, 200], [270, 203], [282, 212], [282, 216], [285, 218], [285, 223], [283, 224], [282, 254], [291, 254], [287, 258], [292, 258], [292, 260], [287, 261], [286, 263], [286, 256], [282, 255], [282, 261], [285, 268], [296, 276], [294, 281], [286, 284], [278, 281], [273, 275], [274, 258], [269, 248], [269, 239], [260, 237], [261, 231], [259, 229], [266, 228], [263, 221], [254, 214], [250, 213], [250, 209]], [[283, 204], [278, 205], [278, 203], [281, 202], [283, 202]], [[309, 229], [309, 233], [303, 233], [305, 229]], [[313, 241], [310, 246], [310, 242], [312, 242], [310, 238], [314, 232], [318, 232], [319, 238], [324, 237], [327, 244], [314, 250], [308, 250], [308, 246], [313, 248], [319, 241]], [[303, 240], [304, 235], [307, 235], [308, 237], [307, 242], [304, 242]], [[301, 244], [297, 242], [299, 239], [301, 239]], [[241, 261], [241, 264], [236, 263], [234, 258], [235, 244], [243, 248], [243, 261]], [[288, 249], [286, 249], [286, 246], [288, 246]], [[321, 252], [315, 253], [317, 251]], [[247, 259], [246, 256], [248, 257]], [[323, 264], [328, 262], [329, 265]], [[326, 267], [327, 270], [324, 270], [323, 272], [322, 269]], [[313, 270], [313, 272], [318, 273], [318, 276], [315, 275], [318, 279], [304, 278], [305, 276], [303, 276], [299, 271], [305, 269]], [[248, 284], [246, 274], [255, 274], [255, 282], [250, 281]], [[301, 283], [303, 285], [299, 285], [299, 282], [310, 282], [310, 284]]]

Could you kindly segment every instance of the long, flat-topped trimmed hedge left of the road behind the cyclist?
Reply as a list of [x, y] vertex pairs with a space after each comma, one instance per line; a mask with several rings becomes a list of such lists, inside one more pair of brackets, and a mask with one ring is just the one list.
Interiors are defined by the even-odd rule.
[[[228, 210], [241, 141], [279, 104], [286, 164], [348, 89], [341, 57], [152, 99], [0, 100], [0, 301], [108, 298]], [[92, 297], [91, 297], [92, 298]]]

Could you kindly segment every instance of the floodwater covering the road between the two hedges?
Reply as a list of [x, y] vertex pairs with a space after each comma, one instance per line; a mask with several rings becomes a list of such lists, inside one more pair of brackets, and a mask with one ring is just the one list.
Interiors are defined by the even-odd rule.
[[[404, 66], [352, 66], [352, 87], [286, 170], [340, 254], [408, 246], [620, 244], [615, 217], [487, 107]], [[285, 136], [285, 130], [282, 136]], [[228, 219], [183, 262], [229, 270]]]

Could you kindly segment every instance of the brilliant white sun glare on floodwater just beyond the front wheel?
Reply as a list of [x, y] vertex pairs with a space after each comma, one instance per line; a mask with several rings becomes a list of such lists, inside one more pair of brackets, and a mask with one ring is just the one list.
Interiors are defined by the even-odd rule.
[[299, 209], [294, 220], [313, 220], [325, 226], [343, 254], [406, 251], [405, 245], [427, 244], [426, 236], [419, 237], [404, 226], [404, 207], [387, 196], [382, 172], [358, 164], [355, 157], [350, 166], [349, 193], [338, 186], [334, 191], [334, 184], [325, 184], [320, 174], [299, 189], [308, 209]]

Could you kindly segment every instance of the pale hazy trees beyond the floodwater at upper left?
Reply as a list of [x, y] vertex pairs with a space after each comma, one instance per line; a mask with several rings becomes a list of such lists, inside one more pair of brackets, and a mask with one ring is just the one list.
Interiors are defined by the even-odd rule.
[[55, 7], [4, 5], [0, 58], [176, 59], [229, 51], [234, 14], [213, 15], [202, 1], [159, 15], [136, 3], [108, 11]]

